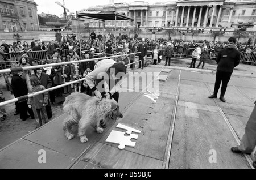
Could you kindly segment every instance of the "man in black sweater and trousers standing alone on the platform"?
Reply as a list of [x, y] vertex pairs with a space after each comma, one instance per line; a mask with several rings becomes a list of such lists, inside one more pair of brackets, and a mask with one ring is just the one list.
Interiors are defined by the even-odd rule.
[[214, 85], [213, 95], [210, 95], [209, 98], [216, 98], [218, 89], [221, 86], [221, 95], [220, 100], [226, 102], [224, 95], [226, 88], [228, 87], [228, 82], [231, 78], [234, 67], [240, 63], [240, 52], [234, 48], [237, 40], [234, 37], [228, 39], [228, 46], [220, 51], [217, 55], [216, 62], [218, 64], [216, 71], [216, 80]]

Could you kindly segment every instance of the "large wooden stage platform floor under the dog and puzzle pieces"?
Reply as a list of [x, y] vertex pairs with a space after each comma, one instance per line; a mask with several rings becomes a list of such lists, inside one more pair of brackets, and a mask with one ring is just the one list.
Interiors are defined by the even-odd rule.
[[[2, 148], [0, 168], [250, 169], [253, 155], [237, 155], [230, 148], [240, 142], [253, 110], [255, 78], [233, 75], [224, 103], [208, 98], [215, 74], [188, 68], [162, 70], [160, 66], [144, 68], [143, 72], [155, 72], [152, 79], [147, 78], [147, 86], [159, 83], [159, 91], [143, 92], [144, 87], [135, 82], [139, 92], [120, 95], [124, 117], [109, 122], [102, 134], [90, 129], [89, 142], [82, 144], [77, 136], [65, 139], [63, 114]], [[168, 78], [159, 81], [158, 75]], [[120, 150], [118, 144], [105, 142], [112, 130], [125, 132], [115, 127], [118, 123], [142, 130], [133, 140], [134, 148]], [[46, 163], [38, 162], [40, 149], [46, 152]]]

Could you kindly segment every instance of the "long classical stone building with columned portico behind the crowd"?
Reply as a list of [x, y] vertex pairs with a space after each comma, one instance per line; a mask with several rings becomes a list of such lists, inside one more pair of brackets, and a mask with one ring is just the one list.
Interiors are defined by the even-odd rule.
[[[177, 0], [148, 3], [114, 3], [97, 5], [82, 11], [116, 11], [134, 18], [134, 22], [117, 21], [117, 27], [131, 28], [219, 28], [256, 22], [255, 0]], [[97, 20], [88, 20], [90, 27], [102, 27]], [[106, 21], [105, 27], [114, 27]]]

